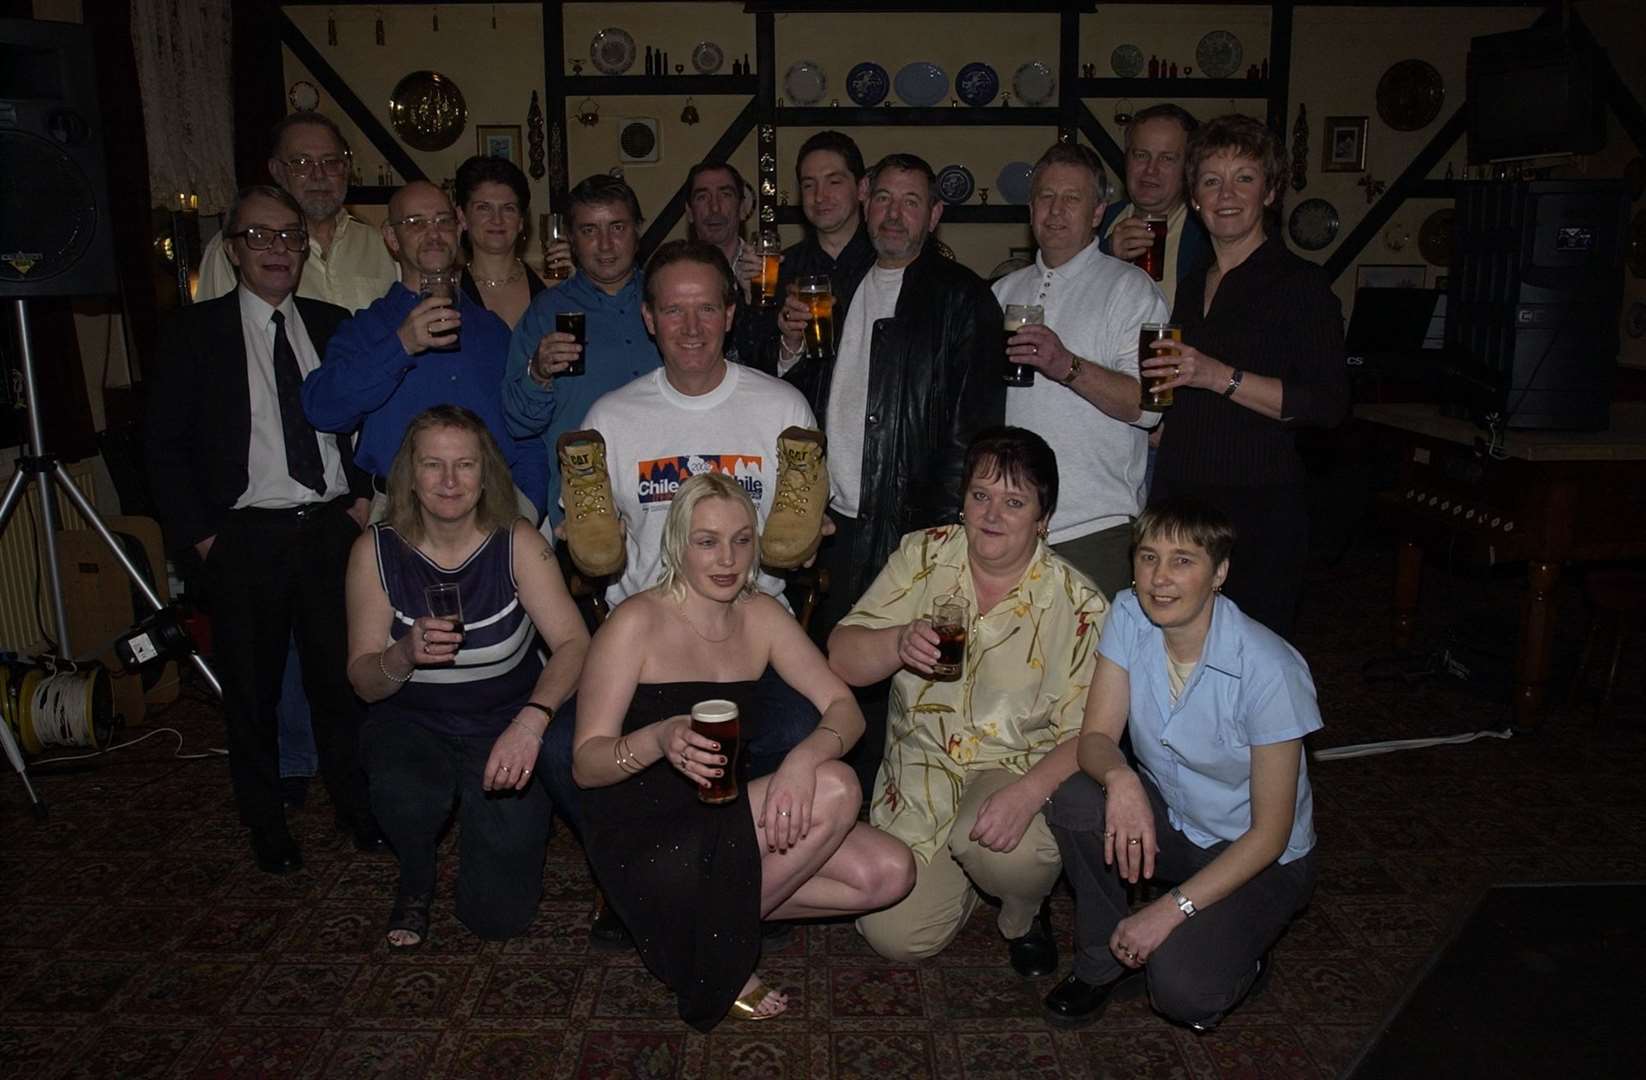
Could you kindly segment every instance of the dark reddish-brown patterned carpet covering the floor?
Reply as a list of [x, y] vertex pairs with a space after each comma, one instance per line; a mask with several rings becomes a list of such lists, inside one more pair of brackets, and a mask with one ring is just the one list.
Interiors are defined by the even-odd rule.
[[[1310, 573], [1299, 642], [1327, 718], [1317, 749], [1501, 724], [1506, 685], [1490, 675], [1475, 687], [1365, 665], [1384, 649], [1391, 566], [1389, 547], [1366, 542]], [[1560, 601], [1557, 698], [1583, 634], [1577, 589]], [[1516, 604], [1511, 576], [1435, 571], [1425, 640], [1500, 673]], [[1142, 999], [1085, 1031], [1047, 1026], [1039, 1001], [1055, 978], [1011, 973], [986, 907], [922, 965], [876, 958], [848, 925], [805, 927], [760, 965], [793, 994], [788, 1014], [704, 1037], [632, 953], [588, 948], [591, 882], [565, 833], [528, 935], [466, 933], [448, 858], [431, 942], [390, 955], [393, 864], [334, 836], [323, 795], [293, 813], [308, 868], [270, 878], [235, 826], [224, 761], [178, 762], [156, 736], [40, 769], [44, 826], [0, 779], [0, 1075], [1332, 1077], [1483, 884], [1646, 878], [1646, 739], [1630, 691], [1606, 726], [1557, 708], [1541, 734], [1508, 742], [1312, 762], [1315, 901], [1277, 947], [1269, 989], [1205, 1037]], [[221, 741], [199, 695], [158, 723], [191, 751]], [[1067, 971], [1072, 901], [1058, 892], [1053, 907]]]

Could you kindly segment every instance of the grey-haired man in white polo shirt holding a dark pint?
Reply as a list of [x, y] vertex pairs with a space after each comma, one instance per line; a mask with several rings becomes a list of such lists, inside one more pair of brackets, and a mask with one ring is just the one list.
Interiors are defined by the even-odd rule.
[[1040, 254], [994, 283], [1006, 305], [1040, 305], [1044, 326], [1006, 342], [1034, 385], [1006, 393], [1006, 423], [1039, 433], [1057, 453], [1062, 496], [1052, 548], [1113, 598], [1131, 581], [1131, 520], [1141, 509], [1147, 428], [1139, 408], [1137, 329], [1165, 323], [1160, 290], [1137, 267], [1098, 250], [1103, 161], [1055, 143], [1030, 178], [1029, 224]]

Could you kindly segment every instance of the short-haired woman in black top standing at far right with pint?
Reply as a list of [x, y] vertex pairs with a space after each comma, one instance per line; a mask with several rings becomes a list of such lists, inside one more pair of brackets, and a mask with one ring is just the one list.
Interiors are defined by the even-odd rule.
[[1205, 123], [1185, 171], [1215, 260], [1177, 288], [1183, 341], [1142, 359], [1144, 377], [1177, 389], [1149, 500], [1223, 510], [1239, 535], [1223, 591], [1290, 637], [1309, 548], [1294, 428], [1333, 426], [1348, 407], [1343, 310], [1325, 272], [1271, 235], [1286, 156], [1262, 122]]

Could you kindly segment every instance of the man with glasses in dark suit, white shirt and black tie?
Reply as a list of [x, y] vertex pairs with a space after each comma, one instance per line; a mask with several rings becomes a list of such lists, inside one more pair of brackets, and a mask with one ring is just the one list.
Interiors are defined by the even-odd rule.
[[239, 288], [183, 308], [148, 395], [148, 472], [166, 540], [199, 563], [224, 688], [229, 779], [257, 864], [303, 856], [280, 798], [275, 706], [296, 637], [321, 774], [337, 826], [377, 850], [356, 762], [360, 705], [346, 675], [344, 570], [370, 479], [346, 436], [316, 435], [300, 387], [349, 318], [293, 296], [308, 257], [303, 209], [280, 188], [245, 188], [224, 229]]

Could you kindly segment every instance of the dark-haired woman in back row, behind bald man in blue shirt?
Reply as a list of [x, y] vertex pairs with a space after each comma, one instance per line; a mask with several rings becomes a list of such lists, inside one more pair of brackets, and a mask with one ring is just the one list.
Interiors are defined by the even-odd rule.
[[458, 166], [458, 221], [463, 222], [463, 291], [514, 329], [546, 286], [525, 265], [532, 189], [507, 158], [474, 156]]

